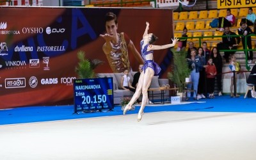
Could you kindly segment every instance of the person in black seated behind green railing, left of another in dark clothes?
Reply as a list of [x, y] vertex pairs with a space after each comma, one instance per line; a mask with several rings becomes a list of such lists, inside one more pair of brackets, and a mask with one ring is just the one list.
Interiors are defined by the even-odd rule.
[[[228, 50], [228, 49], [237, 49], [237, 45], [240, 43], [241, 38], [239, 36], [234, 37], [231, 35], [236, 35], [236, 33], [230, 31], [229, 27], [225, 27], [225, 32], [223, 33], [222, 43], [218, 44], [217, 47], [219, 50]], [[224, 58], [228, 63], [228, 58], [230, 54], [235, 54], [236, 51], [224, 52]]]

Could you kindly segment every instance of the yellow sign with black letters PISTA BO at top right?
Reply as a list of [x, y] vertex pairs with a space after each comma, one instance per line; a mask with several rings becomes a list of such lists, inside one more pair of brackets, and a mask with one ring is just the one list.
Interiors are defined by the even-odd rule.
[[255, 7], [256, 0], [218, 0], [218, 9]]

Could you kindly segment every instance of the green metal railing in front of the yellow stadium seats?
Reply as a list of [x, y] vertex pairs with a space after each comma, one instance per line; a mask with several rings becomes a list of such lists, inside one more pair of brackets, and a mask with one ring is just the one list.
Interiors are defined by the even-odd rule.
[[[231, 37], [239, 37], [239, 36], [243, 36], [243, 35], [230, 35]], [[256, 49], [248, 49], [247, 47], [247, 37], [248, 36], [256, 36], [255, 34], [250, 34], [250, 35], [246, 35], [243, 36], [244, 37], [244, 47], [245, 49], [222, 49], [220, 50], [221, 52], [236, 52], [236, 51], [244, 51], [245, 52], [245, 66], [247, 70], [250, 70], [251, 67], [248, 65], [248, 51], [256, 51]], [[190, 36], [190, 37], [178, 37], [180, 39], [195, 39], [197, 38], [199, 41], [199, 46], [201, 46], [202, 44], [202, 39], [204, 38], [215, 38], [215, 37], [227, 37], [227, 36]], [[206, 41], [206, 40], [205, 40]], [[207, 40], [208, 42], [208, 40]]]

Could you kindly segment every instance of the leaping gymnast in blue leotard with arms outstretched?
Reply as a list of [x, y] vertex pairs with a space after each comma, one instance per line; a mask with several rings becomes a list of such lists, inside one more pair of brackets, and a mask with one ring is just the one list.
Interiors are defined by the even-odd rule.
[[139, 82], [136, 88], [136, 92], [132, 96], [129, 104], [125, 106], [124, 115], [125, 113], [131, 109], [132, 104], [136, 102], [136, 100], [140, 97], [140, 93], [142, 92], [142, 101], [141, 101], [141, 108], [138, 113], [138, 121], [141, 120], [143, 115], [143, 109], [145, 108], [147, 101], [148, 101], [148, 88], [152, 81], [152, 77], [155, 74], [159, 74], [161, 68], [155, 63], [153, 60], [153, 51], [159, 49], [167, 49], [173, 47], [177, 43], [177, 38], [172, 39], [172, 44], [166, 45], [152, 45], [156, 42], [157, 37], [153, 35], [153, 33], [148, 34], [149, 23], [146, 22], [146, 29], [143, 34], [143, 40], [141, 40], [141, 56], [144, 60], [143, 72], [140, 74]]

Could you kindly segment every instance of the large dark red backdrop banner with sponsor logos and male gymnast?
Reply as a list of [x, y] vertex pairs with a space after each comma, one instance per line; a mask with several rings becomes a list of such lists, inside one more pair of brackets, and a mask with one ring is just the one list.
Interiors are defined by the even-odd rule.
[[[96, 73], [137, 71], [145, 22], [171, 42], [172, 10], [135, 8], [0, 8], [0, 109], [73, 104], [77, 52], [103, 61]], [[154, 61], [166, 74], [168, 49]]]

